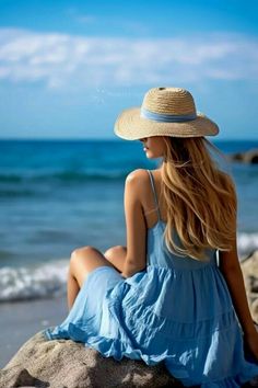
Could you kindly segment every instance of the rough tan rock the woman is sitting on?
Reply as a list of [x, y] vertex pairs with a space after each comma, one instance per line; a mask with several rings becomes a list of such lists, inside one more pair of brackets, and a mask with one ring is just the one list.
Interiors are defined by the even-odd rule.
[[32, 336], [0, 370], [0, 387], [133, 388], [183, 387], [163, 363], [148, 366], [124, 357], [115, 361], [70, 340]]

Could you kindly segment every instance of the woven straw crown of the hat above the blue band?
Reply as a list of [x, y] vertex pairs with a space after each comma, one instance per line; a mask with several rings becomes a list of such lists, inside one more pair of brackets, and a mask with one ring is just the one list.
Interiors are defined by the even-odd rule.
[[144, 95], [142, 107], [161, 114], [196, 114], [196, 104], [191, 93], [181, 88], [150, 89]]

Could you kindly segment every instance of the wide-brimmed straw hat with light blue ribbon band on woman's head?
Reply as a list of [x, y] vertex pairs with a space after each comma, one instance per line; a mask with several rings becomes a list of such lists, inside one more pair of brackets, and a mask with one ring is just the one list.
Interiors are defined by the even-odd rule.
[[115, 134], [126, 140], [150, 136], [215, 136], [219, 127], [196, 111], [190, 92], [181, 88], [153, 88], [141, 107], [122, 111], [115, 123]]

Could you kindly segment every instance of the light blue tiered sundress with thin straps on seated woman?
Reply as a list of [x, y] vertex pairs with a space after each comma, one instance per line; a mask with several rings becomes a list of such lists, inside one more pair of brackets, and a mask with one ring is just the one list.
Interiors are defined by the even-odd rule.
[[[47, 340], [71, 339], [105, 357], [164, 362], [184, 386], [237, 388], [258, 376], [245, 358], [243, 331], [215, 250], [208, 262], [172, 254], [159, 220], [148, 229], [146, 267], [124, 278], [112, 266], [89, 273], [64, 321], [45, 329]], [[176, 238], [177, 235], [175, 235]]]

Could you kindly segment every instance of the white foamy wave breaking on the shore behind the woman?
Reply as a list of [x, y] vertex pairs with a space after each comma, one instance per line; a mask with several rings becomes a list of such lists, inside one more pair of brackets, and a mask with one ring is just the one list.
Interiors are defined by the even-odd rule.
[[[239, 260], [258, 250], [258, 233], [241, 232], [237, 238]], [[69, 259], [38, 266], [0, 269], [0, 303], [30, 300], [64, 295]]]

